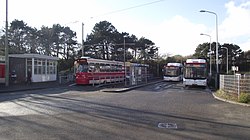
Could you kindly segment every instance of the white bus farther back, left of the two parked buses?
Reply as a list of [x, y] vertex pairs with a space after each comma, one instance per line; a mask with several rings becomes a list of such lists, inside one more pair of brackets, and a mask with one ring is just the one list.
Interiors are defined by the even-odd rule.
[[164, 81], [181, 81], [183, 78], [183, 65], [181, 63], [167, 63], [163, 67]]

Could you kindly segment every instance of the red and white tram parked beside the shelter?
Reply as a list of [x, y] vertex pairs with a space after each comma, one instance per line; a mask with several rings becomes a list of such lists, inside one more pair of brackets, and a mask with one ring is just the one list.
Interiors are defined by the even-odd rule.
[[124, 62], [81, 57], [75, 68], [76, 84], [124, 81]]

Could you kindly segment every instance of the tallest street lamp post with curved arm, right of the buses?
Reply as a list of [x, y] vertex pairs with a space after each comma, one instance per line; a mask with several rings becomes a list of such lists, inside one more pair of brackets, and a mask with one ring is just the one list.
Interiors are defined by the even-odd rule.
[[216, 22], [216, 77], [215, 77], [215, 88], [218, 89], [218, 75], [219, 75], [219, 61], [218, 61], [218, 16], [215, 12], [207, 11], [207, 10], [200, 10], [200, 12], [206, 12], [215, 15], [215, 22]]

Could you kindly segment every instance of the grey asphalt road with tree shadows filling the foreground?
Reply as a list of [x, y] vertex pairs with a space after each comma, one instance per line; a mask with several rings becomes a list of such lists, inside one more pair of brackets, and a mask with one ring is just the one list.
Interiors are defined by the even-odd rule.
[[249, 107], [178, 83], [121, 93], [73, 86], [0, 96], [4, 140], [250, 138]]

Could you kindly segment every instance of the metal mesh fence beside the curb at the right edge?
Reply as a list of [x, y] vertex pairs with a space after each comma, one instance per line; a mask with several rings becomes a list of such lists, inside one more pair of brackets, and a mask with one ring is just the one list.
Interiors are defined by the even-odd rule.
[[220, 75], [220, 89], [238, 98], [241, 93], [250, 93], [250, 75]]

